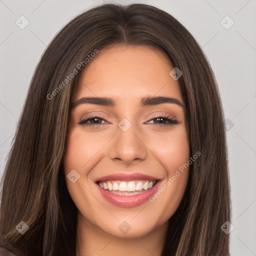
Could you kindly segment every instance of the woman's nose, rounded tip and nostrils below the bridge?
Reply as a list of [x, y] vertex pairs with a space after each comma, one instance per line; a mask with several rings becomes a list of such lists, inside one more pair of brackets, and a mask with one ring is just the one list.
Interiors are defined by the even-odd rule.
[[135, 125], [131, 125], [126, 131], [118, 127], [110, 145], [109, 157], [128, 165], [133, 161], [142, 161], [146, 156], [147, 146]]

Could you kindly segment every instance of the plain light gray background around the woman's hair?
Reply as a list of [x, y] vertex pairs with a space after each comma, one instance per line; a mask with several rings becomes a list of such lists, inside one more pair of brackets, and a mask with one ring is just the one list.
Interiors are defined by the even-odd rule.
[[[256, 255], [256, 0], [0, 0], [0, 176], [43, 50], [70, 19], [104, 2], [146, 3], [161, 8], [177, 18], [201, 45], [228, 119], [234, 226], [230, 252], [233, 256]], [[21, 15], [29, 21], [24, 29], [15, 24]], [[226, 15], [234, 21], [228, 29], [222, 25], [231, 24]]]

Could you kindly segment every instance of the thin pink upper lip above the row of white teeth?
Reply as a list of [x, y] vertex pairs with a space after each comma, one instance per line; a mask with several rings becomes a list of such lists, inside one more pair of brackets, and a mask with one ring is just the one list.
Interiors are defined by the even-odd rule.
[[131, 181], [131, 180], [148, 180], [148, 181], [153, 181], [157, 180], [158, 178], [149, 176], [146, 174], [142, 173], [113, 173], [101, 178], [98, 178], [96, 182], [102, 182], [102, 181], [107, 181], [107, 180], [123, 180], [123, 181]]

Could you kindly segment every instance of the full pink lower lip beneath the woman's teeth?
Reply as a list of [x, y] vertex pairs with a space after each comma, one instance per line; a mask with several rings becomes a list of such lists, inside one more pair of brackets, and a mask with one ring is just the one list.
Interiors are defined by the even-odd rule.
[[108, 190], [105, 190], [101, 188], [98, 184], [97, 187], [99, 191], [101, 192], [102, 196], [109, 201], [110, 203], [118, 206], [118, 207], [126, 207], [126, 208], [131, 208], [131, 207], [136, 207], [148, 200], [150, 196], [152, 196], [156, 191], [159, 186], [159, 181], [156, 182], [151, 188], [147, 189], [144, 192], [141, 192], [137, 195], [118, 195], [111, 193]]

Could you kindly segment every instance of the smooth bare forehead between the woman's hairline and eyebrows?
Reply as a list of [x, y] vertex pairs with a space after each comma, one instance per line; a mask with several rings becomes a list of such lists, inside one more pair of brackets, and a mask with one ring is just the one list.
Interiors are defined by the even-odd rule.
[[148, 46], [114, 45], [101, 50], [85, 66], [74, 90], [81, 96], [108, 96], [134, 101], [145, 95], [166, 95], [182, 101], [173, 66], [161, 50]]

